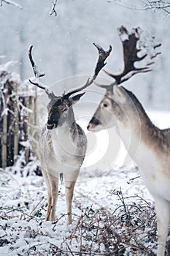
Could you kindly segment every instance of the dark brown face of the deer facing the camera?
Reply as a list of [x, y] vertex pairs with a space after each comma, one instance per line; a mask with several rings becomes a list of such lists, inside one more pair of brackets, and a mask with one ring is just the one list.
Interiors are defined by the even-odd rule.
[[72, 105], [69, 99], [53, 97], [47, 105], [47, 129], [61, 127], [69, 118], [69, 108]]

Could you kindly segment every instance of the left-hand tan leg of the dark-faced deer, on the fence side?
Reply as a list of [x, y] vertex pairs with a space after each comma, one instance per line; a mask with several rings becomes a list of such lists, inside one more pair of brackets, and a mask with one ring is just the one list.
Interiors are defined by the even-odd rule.
[[48, 208], [47, 208], [47, 219], [51, 222], [55, 221], [55, 208], [58, 200], [58, 176], [53, 176], [48, 173], [50, 181], [50, 190], [48, 189]]

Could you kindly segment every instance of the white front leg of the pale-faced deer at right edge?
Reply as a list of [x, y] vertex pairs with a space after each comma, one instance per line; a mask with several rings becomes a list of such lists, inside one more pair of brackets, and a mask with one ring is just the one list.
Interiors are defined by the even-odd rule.
[[166, 249], [166, 238], [169, 233], [170, 203], [163, 198], [155, 198], [155, 211], [158, 228], [158, 254], [164, 256]]

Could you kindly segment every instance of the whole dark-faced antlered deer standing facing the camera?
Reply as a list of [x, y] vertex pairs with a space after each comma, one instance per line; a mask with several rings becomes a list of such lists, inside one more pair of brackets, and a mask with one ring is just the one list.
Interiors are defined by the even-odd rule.
[[[61, 96], [55, 95], [40, 81], [45, 75], [39, 72], [32, 57], [33, 45], [28, 49], [28, 57], [36, 80], [29, 80], [34, 86], [43, 89], [50, 102], [47, 105], [47, 124], [42, 129], [39, 138], [39, 158], [42, 175], [47, 184], [48, 203], [46, 221], [55, 221], [55, 208], [58, 200], [58, 179], [65, 180], [67, 225], [72, 224], [72, 198], [74, 186], [80, 173], [80, 167], [85, 159], [87, 138], [85, 132], [76, 123], [73, 105], [85, 94], [86, 89], [96, 79], [98, 73], [107, 63], [112, 47], [104, 50], [100, 45], [93, 43], [98, 50], [98, 61], [91, 78], [79, 89], [73, 89]], [[74, 94], [74, 95], [73, 95]]]

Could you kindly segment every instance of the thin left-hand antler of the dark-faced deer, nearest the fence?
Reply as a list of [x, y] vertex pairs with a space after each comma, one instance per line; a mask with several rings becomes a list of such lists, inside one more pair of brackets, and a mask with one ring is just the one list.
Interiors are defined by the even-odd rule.
[[43, 76], [45, 76], [45, 72], [39, 73], [38, 67], [36, 66], [36, 64], [33, 60], [33, 57], [32, 57], [32, 48], [33, 48], [33, 45], [31, 45], [28, 49], [28, 57], [29, 57], [29, 60], [31, 61], [31, 66], [34, 71], [36, 83], [34, 83], [31, 79], [29, 79], [29, 82], [34, 84], [34, 86], [38, 86], [39, 88], [45, 90], [48, 97], [53, 97], [53, 95], [54, 95], [53, 92], [49, 91], [49, 89], [47, 89], [47, 87], [39, 80], [39, 78], [42, 78]]

